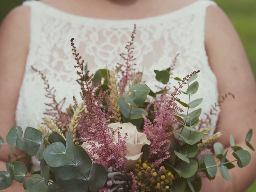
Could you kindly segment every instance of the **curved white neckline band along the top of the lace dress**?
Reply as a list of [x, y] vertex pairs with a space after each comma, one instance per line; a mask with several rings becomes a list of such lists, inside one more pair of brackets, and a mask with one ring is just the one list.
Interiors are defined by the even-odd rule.
[[[31, 0], [28, 0], [26, 2], [30, 2]], [[24, 2], [24, 4], [26, 5], [26, 2]], [[161, 22], [163, 20], [165, 20], [166, 18], [177, 18], [180, 17], [181, 13], [186, 14], [189, 13], [193, 10], [196, 10], [196, 5], [201, 3], [201, 2], [209, 2], [209, 0], [197, 0], [195, 2], [192, 2], [186, 6], [183, 6], [181, 8], [178, 8], [177, 10], [174, 10], [172, 12], [168, 12], [165, 14], [161, 14], [161, 15], [156, 15], [156, 16], [150, 16], [150, 17], [146, 17], [146, 18], [138, 18], [138, 19], [122, 19], [122, 20], [110, 20], [110, 19], [103, 19], [103, 18], [93, 18], [93, 17], [88, 17], [88, 16], [80, 16], [80, 15], [76, 15], [76, 14], [71, 14], [68, 12], [64, 12], [63, 10], [60, 10], [58, 8], [55, 8], [53, 6], [50, 6], [48, 4], [45, 4], [43, 2], [40, 1], [34, 1], [34, 4], [37, 4], [37, 6], [40, 6], [40, 10], [45, 10], [48, 14], [53, 15], [54, 17], [58, 17], [59, 19], [62, 20], [66, 20], [68, 22], [78, 22], [78, 23], [94, 23], [98, 26], [104, 24], [104, 27], [106, 27], [106, 25], [108, 26], [126, 26], [130, 25], [130, 24], [139, 24], [139, 26], [144, 25], [144, 24], [148, 24], [152, 22]], [[211, 1], [210, 1], [211, 2]], [[130, 26], [129, 26], [130, 27]]]

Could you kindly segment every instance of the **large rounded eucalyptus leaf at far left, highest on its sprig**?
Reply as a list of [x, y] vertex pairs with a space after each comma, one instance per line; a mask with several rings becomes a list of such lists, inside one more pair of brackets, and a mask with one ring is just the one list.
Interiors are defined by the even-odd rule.
[[18, 149], [22, 149], [22, 128], [20, 126], [13, 126], [6, 136], [6, 142], [10, 147], [17, 146]]

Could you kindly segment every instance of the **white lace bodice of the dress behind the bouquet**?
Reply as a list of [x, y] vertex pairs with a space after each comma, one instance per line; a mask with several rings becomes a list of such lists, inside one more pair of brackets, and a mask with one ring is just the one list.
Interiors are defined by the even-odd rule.
[[[42, 122], [46, 109], [44, 103], [49, 102], [44, 96], [43, 81], [31, 66], [46, 75], [50, 85], [57, 90], [57, 98], [66, 97], [68, 106], [73, 96], [80, 98], [70, 39], [75, 38], [78, 52], [88, 62], [89, 70], [95, 72], [122, 62], [119, 53], [124, 52], [134, 24], [137, 26], [134, 54], [138, 69], [144, 69], [143, 78], [147, 84], [150, 87], [158, 85], [154, 80], [154, 70], [168, 68], [179, 53], [174, 76], [182, 78], [192, 71], [201, 71], [198, 74], [200, 87], [193, 100], [204, 98], [200, 105], [202, 114], [209, 112], [211, 105], [218, 101], [216, 76], [208, 65], [204, 46], [206, 8], [211, 5], [215, 3], [198, 0], [160, 16], [138, 20], [103, 20], [68, 14], [40, 1], [24, 2], [31, 12], [30, 46], [16, 123], [22, 128], [36, 128]], [[172, 82], [172, 85], [176, 84]], [[186, 96], [180, 96], [180, 99], [188, 102]], [[217, 118], [212, 116], [213, 127]]]

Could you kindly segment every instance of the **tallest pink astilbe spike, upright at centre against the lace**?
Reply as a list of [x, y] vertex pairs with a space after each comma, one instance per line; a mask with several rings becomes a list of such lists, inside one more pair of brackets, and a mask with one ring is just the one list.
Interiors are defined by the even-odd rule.
[[120, 95], [122, 96], [123, 93], [124, 93], [124, 90], [125, 90], [125, 87], [128, 83], [128, 81], [132, 80], [132, 78], [134, 77], [134, 66], [136, 64], [134, 64], [134, 56], [132, 55], [133, 53], [133, 50], [134, 50], [134, 47], [133, 47], [133, 44], [134, 44], [134, 38], [135, 38], [135, 35], [136, 34], [136, 25], [134, 25], [134, 30], [132, 32], [132, 35], [131, 35], [131, 40], [128, 42], [128, 44], [126, 45], [126, 50], [127, 52], [126, 53], [121, 53], [120, 56], [124, 59], [124, 64], [119, 64], [118, 63], [118, 71], [121, 73], [121, 76], [120, 76], [120, 82], [119, 82], [119, 89], [120, 89]]

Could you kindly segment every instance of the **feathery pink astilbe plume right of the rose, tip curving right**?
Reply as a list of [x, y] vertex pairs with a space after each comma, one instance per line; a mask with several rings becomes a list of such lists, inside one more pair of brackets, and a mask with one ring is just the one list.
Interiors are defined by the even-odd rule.
[[192, 72], [190, 75], [183, 78], [182, 82], [178, 82], [179, 87], [174, 87], [174, 92], [162, 94], [158, 100], [154, 101], [154, 121], [151, 122], [142, 116], [144, 119], [143, 132], [147, 135], [148, 140], [151, 144], [148, 148], [148, 160], [159, 166], [164, 160], [170, 158], [169, 148], [171, 145], [170, 136], [174, 132], [170, 132], [170, 126], [175, 127], [178, 124], [177, 118], [174, 115], [182, 112], [175, 100], [178, 99], [178, 94], [180, 94], [180, 89], [186, 83], [186, 81], [195, 73], [199, 71]]

